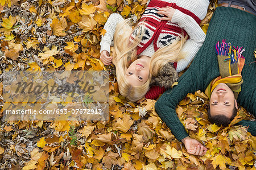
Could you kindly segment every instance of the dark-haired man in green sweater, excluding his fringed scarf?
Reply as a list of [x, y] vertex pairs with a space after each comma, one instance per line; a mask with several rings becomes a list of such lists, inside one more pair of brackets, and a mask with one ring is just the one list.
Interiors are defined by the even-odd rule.
[[[243, 83], [240, 84], [241, 92], [237, 100], [233, 92], [239, 90], [232, 91], [226, 83], [219, 83], [210, 88], [212, 96], [209, 102], [209, 119], [217, 124], [228, 125], [236, 113], [237, 102], [256, 116], [256, 63], [251, 63], [255, 61], [253, 51], [256, 48], [256, 7], [255, 2], [251, 0], [246, 1], [246, 5], [239, 5], [239, 2], [243, 1], [237, 1], [238, 5], [232, 5], [230, 1], [228, 4], [222, 3], [217, 7], [209, 23], [205, 42], [191, 66], [180, 77], [178, 85], [167, 90], [155, 104], [155, 110], [160, 118], [177, 140], [184, 143], [189, 154], [204, 155], [207, 148], [188, 136], [175, 109], [188, 93], [204, 91], [216, 77], [220, 76], [221, 67], [219, 67], [215, 45], [222, 39], [231, 42], [235, 47], [245, 48], [243, 52], [245, 65], [241, 73]], [[251, 6], [250, 10], [247, 6]], [[242, 120], [238, 124], [247, 126], [248, 131], [256, 135], [256, 122]]]

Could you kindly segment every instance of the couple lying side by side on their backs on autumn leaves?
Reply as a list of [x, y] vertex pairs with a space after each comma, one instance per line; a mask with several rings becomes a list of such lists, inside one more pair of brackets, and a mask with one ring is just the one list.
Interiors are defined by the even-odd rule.
[[[189, 137], [175, 108], [188, 94], [204, 91], [209, 97], [208, 118], [228, 126], [237, 115], [237, 102], [256, 115], [256, 16], [233, 7], [217, 7], [207, 36], [199, 23], [207, 14], [208, 0], [151, 0], [134, 29], [130, 20], [110, 15], [101, 41], [101, 61], [116, 68], [119, 92], [128, 101], [156, 99], [155, 110], [184, 143], [189, 154], [204, 155], [207, 148]], [[225, 19], [224, 19], [225, 18]], [[109, 56], [114, 43], [113, 58]], [[246, 50], [245, 50], [246, 49]], [[192, 61], [177, 81], [177, 72]], [[256, 122], [242, 120], [256, 135]]]

